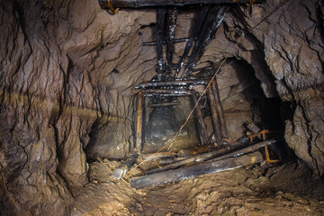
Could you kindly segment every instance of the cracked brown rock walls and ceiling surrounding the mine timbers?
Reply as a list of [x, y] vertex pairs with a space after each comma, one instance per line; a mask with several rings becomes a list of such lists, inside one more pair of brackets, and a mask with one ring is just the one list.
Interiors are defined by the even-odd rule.
[[[233, 8], [199, 64], [243, 61], [267, 97], [293, 102], [285, 139], [322, 176], [324, 7], [289, 1], [256, 26], [278, 3]], [[22, 0], [1, 2], [0, 14], [0, 212], [64, 215], [69, 188], [87, 182], [85, 148], [125, 157], [133, 146], [133, 87], [157, 67], [156, 49], [141, 46], [154, 40], [155, 10], [110, 15], [96, 1]], [[180, 12], [176, 37], [192, 17]], [[183, 49], [175, 46], [175, 58]], [[226, 104], [248, 87], [219, 85]]]

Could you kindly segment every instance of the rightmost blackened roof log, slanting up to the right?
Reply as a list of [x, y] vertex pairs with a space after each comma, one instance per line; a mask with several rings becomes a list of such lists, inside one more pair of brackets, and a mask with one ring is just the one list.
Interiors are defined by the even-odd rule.
[[223, 21], [228, 10], [228, 5], [212, 6], [209, 10], [208, 15], [202, 25], [199, 38], [194, 43], [193, 52], [188, 59], [186, 67], [184, 68], [184, 74], [182, 76], [183, 78], [192, 72], [193, 67], [195, 67], [195, 64], [202, 57], [204, 50], [207, 48], [209, 42], [212, 40], [212, 37], [220, 27], [220, 23]]

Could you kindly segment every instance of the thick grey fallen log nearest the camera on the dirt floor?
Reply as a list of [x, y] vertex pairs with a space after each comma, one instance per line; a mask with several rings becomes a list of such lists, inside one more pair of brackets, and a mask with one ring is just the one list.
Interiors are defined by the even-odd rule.
[[249, 166], [263, 161], [261, 153], [255, 152], [246, 156], [227, 158], [216, 162], [208, 162], [195, 166], [188, 166], [163, 173], [134, 177], [130, 180], [130, 186], [136, 189], [150, 187], [158, 184], [175, 183], [180, 180], [192, 178], [198, 175], [219, 173], [221, 171]]

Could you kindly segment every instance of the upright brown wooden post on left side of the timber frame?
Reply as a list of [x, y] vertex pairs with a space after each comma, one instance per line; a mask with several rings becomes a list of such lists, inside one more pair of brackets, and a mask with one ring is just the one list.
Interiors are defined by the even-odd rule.
[[142, 127], [143, 127], [143, 94], [141, 91], [139, 91], [138, 103], [137, 103], [136, 143], [135, 143], [135, 151], [137, 153], [141, 152]]

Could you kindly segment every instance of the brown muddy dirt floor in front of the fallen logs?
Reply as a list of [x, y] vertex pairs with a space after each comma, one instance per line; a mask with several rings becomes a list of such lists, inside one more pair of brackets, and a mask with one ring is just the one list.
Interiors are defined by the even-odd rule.
[[89, 184], [73, 189], [71, 215], [324, 215], [324, 184], [293, 161], [141, 190], [130, 188], [127, 178], [113, 179], [110, 169], [119, 164], [107, 159], [90, 164]]

